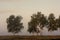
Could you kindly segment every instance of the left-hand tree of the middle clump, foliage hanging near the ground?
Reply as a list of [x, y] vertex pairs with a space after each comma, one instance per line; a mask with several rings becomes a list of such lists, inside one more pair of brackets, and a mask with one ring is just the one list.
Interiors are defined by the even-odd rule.
[[39, 30], [37, 29], [37, 19], [36, 19], [36, 14], [33, 14], [31, 16], [31, 21], [28, 23], [28, 32], [29, 33], [39, 33]]

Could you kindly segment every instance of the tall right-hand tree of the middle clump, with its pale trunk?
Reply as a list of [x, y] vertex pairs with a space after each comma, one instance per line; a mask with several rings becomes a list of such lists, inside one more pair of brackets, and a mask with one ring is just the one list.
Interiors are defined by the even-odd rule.
[[[47, 17], [44, 16], [44, 14], [41, 14], [41, 12], [37, 12], [37, 21], [38, 21], [38, 27], [40, 27], [41, 30], [48, 24]], [[42, 35], [42, 32], [40, 31], [40, 34]]]

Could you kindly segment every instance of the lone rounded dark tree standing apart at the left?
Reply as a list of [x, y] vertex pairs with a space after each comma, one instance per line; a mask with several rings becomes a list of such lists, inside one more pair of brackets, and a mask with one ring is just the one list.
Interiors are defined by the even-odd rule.
[[14, 15], [11, 15], [9, 18], [7, 18], [8, 32], [12, 32], [13, 34], [20, 32], [21, 29], [24, 28], [23, 23], [21, 23], [21, 20], [21, 16], [15, 17]]

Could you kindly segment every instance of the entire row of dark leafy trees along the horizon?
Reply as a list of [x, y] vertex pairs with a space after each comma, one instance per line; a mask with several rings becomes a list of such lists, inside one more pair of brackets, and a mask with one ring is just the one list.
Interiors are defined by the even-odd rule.
[[[16, 34], [24, 28], [23, 23], [21, 22], [22, 16], [14, 16], [11, 15], [7, 18], [7, 29], [8, 32], [12, 32]], [[49, 16], [45, 16], [41, 12], [37, 12], [37, 14], [33, 14], [31, 16], [30, 22], [28, 22], [29, 33], [41, 33], [41, 30], [46, 27], [48, 31], [55, 31], [60, 28], [60, 16], [59, 18], [55, 18], [54, 14], [51, 13]], [[40, 30], [41, 29], [41, 30]]]

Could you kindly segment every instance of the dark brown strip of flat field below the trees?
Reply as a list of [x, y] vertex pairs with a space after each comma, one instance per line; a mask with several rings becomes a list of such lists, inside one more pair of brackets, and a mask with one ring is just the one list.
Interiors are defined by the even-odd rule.
[[0, 36], [0, 40], [58, 40], [60, 36]]

